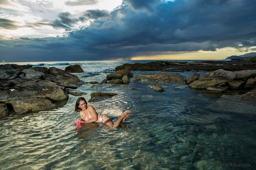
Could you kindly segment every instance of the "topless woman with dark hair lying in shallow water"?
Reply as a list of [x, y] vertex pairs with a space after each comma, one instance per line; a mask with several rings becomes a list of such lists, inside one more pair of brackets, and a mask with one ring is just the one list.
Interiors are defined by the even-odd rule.
[[118, 127], [121, 123], [124, 123], [126, 116], [131, 113], [131, 111], [125, 111], [122, 113], [121, 117], [113, 123], [113, 121], [107, 116], [103, 114], [98, 114], [93, 106], [87, 106], [87, 102], [83, 97], [79, 97], [76, 100], [75, 112], [78, 112], [81, 116], [81, 122], [79, 120], [76, 121], [76, 124], [79, 123], [103, 123], [108, 126]]

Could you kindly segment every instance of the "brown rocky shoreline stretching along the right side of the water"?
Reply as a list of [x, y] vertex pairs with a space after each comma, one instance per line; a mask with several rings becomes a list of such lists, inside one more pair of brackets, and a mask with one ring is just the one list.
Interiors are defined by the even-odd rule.
[[[242, 95], [225, 95], [221, 98], [231, 100], [244, 100], [256, 102], [256, 63], [251, 58], [242, 58], [233, 61], [205, 61], [205, 62], [165, 62], [123, 64], [116, 67], [116, 71], [102, 81], [105, 83], [129, 83], [130, 80], [150, 84], [148, 87], [157, 91], [164, 91], [161, 84], [187, 84], [190, 88], [207, 90], [210, 92], [225, 92], [237, 94], [243, 90]], [[132, 71], [156, 71], [151, 74], [137, 74], [133, 77]], [[195, 72], [186, 77], [171, 72]], [[201, 71], [208, 71], [200, 77]], [[124, 73], [125, 74], [119, 74]], [[128, 75], [129, 81], [122, 81]]]

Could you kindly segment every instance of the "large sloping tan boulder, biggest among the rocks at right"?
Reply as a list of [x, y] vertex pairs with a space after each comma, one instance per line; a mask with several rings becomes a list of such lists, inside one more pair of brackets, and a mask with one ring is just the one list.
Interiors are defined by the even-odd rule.
[[201, 77], [201, 79], [189, 84], [189, 87], [196, 89], [207, 89], [211, 86], [218, 86], [219, 84], [227, 83], [229, 81], [234, 80], [235, 78], [235, 73], [220, 69], [204, 74], [203, 77]]

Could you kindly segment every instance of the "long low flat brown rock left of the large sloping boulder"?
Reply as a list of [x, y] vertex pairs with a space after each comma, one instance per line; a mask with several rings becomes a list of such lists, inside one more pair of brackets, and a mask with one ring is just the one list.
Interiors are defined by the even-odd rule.
[[135, 75], [134, 81], [142, 82], [156, 82], [156, 83], [166, 83], [166, 84], [186, 84], [186, 77], [177, 73], [167, 73], [167, 72], [156, 72], [153, 74], [137, 74]]

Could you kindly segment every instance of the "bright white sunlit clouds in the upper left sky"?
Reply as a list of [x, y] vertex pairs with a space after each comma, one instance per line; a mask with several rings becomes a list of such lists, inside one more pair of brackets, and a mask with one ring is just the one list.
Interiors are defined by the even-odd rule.
[[[59, 19], [61, 12], [69, 12], [75, 19], [82, 16], [86, 10], [112, 11], [122, 4], [122, 0], [100, 0], [96, 4], [75, 6], [68, 6], [65, 4], [66, 2], [67, 1], [50, 0], [10, 0], [9, 3], [3, 4], [4, 8], [1, 10], [1, 15], [2, 18], [13, 21], [13, 23], [15, 23], [15, 29], [0, 29], [0, 34], [2, 35], [1, 39], [63, 36], [63, 33], [66, 32], [65, 29], [54, 29], [50, 26], [51, 22]], [[90, 21], [74, 23], [71, 30], [88, 27]]]

